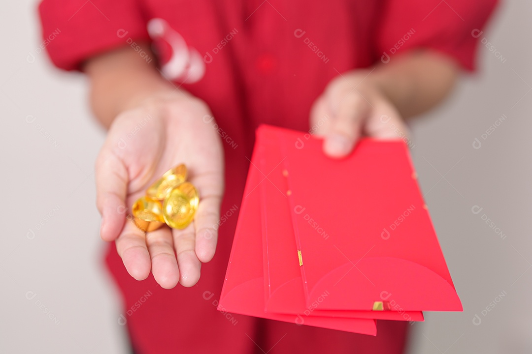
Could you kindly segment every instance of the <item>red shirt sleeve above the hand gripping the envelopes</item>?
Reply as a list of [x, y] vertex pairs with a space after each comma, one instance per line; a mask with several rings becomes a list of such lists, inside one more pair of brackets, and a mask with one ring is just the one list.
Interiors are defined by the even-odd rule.
[[497, 0], [388, 0], [377, 31], [383, 63], [412, 49], [433, 49], [475, 69], [478, 41]]

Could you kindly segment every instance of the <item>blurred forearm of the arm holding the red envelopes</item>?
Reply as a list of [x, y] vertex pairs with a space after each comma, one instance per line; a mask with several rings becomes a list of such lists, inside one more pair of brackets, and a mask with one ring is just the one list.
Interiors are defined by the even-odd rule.
[[423, 50], [379, 64], [368, 79], [372, 77], [401, 116], [409, 118], [441, 102], [451, 92], [458, 74], [458, 65], [452, 59]]

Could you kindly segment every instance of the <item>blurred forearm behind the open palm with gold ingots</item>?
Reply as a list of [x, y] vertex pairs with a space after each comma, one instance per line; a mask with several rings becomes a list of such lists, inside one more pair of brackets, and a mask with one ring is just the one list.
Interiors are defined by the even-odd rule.
[[[143, 50], [154, 57], [148, 45]], [[147, 63], [129, 47], [112, 50], [85, 63], [84, 71], [90, 80], [90, 104], [104, 127], [109, 128], [118, 114], [154, 93], [175, 90], [154, 63], [154, 60]]]

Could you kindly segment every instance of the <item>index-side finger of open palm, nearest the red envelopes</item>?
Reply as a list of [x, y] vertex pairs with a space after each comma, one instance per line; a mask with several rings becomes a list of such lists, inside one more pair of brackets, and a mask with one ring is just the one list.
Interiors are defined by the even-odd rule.
[[207, 196], [201, 199], [194, 218], [196, 229], [196, 256], [203, 263], [214, 257], [218, 242], [221, 197]]

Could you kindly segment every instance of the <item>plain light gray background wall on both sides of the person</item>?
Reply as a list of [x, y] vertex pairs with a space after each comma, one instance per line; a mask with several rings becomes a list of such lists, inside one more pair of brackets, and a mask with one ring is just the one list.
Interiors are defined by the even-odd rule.
[[[1, 7], [0, 352], [126, 352], [98, 238], [93, 165], [104, 132], [90, 116], [86, 79], [52, 70], [36, 53], [34, 1]], [[479, 74], [412, 126], [414, 163], [464, 305], [413, 325], [412, 354], [532, 352], [531, 7], [503, 4], [481, 38], [504, 63], [480, 47]]]

